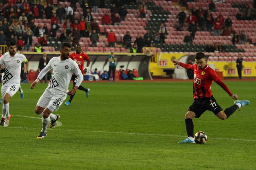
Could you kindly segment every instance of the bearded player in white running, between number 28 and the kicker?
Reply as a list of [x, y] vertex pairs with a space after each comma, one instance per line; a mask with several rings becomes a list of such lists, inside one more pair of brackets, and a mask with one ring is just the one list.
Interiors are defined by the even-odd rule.
[[[58, 110], [66, 99], [67, 94], [74, 95], [83, 81], [83, 74], [81, 73], [77, 63], [70, 59], [71, 44], [63, 42], [61, 44], [60, 52], [61, 56], [50, 59], [47, 66], [40, 72], [35, 82], [30, 86], [30, 88], [33, 89], [38, 81], [52, 69], [52, 78], [48, 87], [45, 89], [44, 94], [42, 94], [35, 106], [35, 113], [43, 116], [42, 130], [37, 136], [37, 139], [44, 139], [47, 135], [48, 125], [50, 124], [50, 128], [53, 127], [55, 122], [60, 118], [59, 115], [54, 115], [52, 112]], [[73, 73], [75, 73], [79, 79], [76, 82], [76, 86], [71, 91], [68, 91], [70, 79]]]

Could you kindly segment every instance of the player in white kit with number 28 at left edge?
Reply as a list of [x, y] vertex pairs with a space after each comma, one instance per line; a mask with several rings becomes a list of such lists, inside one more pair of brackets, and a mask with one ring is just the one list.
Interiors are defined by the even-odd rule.
[[25, 72], [23, 80], [27, 77], [29, 62], [23, 54], [16, 53], [17, 47], [15, 42], [7, 43], [7, 52], [0, 58], [0, 65], [3, 65], [3, 82], [2, 82], [2, 99], [3, 115], [0, 125], [7, 127], [11, 115], [9, 113], [9, 100], [20, 88], [20, 70], [21, 63], [25, 63]]

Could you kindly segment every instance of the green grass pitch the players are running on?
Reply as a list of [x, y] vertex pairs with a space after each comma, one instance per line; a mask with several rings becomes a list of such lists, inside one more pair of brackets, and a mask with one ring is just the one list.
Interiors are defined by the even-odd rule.
[[[186, 138], [192, 82], [83, 83], [90, 96], [77, 91], [70, 106], [61, 105], [58, 127], [45, 139], [36, 139], [41, 119], [34, 109], [47, 84], [22, 84], [25, 98], [12, 97], [9, 127], [0, 127], [1, 169], [255, 170], [256, 82], [225, 83], [251, 104], [227, 120], [209, 111], [193, 119], [194, 132], [208, 136], [201, 145], [178, 143]], [[212, 91], [223, 109], [233, 105], [216, 83]]]

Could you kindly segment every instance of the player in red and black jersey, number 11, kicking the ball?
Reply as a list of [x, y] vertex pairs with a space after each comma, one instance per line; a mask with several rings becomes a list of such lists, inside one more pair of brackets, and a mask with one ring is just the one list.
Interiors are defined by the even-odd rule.
[[[249, 105], [248, 100], [237, 100], [238, 96], [232, 94], [230, 89], [221, 79], [218, 77], [216, 72], [206, 64], [206, 58], [203, 52], [195, 54], [195, 64], [185, 64], [177, 59], [172, 60], [175, 65], [180, 65], [185, 69], [194, 71], [193, 80], [193, 91], [194, 91], [194, 102], [189, 107], [188, 112], [185, 115], [186, 132], [188, 137], [179, 143], [195, 143], [194, 140], [194, 125], [192, 119], [199, 118], [205, 111], [213, 112], [219, 119], [227, 119], [233, 114], [236, 109], [241, 108], [245, 105]], [[232, 98], [236, 99], [235, 104], [226, 108], [225, 111], [218, 105], [214, 97], [212, 96], [211, 85], [212, 81], [216, 82], [227, 94]]]

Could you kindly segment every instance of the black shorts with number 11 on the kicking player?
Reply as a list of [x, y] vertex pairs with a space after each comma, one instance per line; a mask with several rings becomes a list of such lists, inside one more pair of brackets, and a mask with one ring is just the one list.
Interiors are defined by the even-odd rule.
[[194, 112], [196, 118], [199, 118], [207, 110], [213, 112], [215, 115], [222, 111], [221, 106], [218, 105], [213, 96], [195, 99], [189, 107], [189, 111]]

